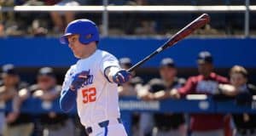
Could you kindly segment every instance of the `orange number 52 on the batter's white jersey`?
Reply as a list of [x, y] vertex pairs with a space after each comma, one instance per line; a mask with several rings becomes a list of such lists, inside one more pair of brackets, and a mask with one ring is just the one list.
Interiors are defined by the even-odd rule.
[[84, 104], [96, 101], [96, 88], [84, 88], [82, 90]]

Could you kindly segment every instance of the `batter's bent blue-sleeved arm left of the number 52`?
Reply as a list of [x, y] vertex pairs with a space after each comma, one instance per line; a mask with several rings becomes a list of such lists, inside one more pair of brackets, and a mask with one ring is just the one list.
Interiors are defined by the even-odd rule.
[[64, 90], [60, 99], [61, 110], [65, 112], [71, 111], [76, 103], [76, 98], [76, 91], [72, 91], [71, 89]]

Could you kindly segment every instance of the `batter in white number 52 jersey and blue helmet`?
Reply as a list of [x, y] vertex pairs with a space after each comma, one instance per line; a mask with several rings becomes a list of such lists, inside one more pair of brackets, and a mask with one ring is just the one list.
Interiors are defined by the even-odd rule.
[[77, 104], [80, 122], [90, 136], [126, 136], [120, 120], [117, 85], [131, 73], [120, 68], [112, 54], [97, 49], [99, 32], [91, 20], [73, 20], [61, 43], [68, 44], [78, 62], [67, 71], [60, 105], [70, 111]]

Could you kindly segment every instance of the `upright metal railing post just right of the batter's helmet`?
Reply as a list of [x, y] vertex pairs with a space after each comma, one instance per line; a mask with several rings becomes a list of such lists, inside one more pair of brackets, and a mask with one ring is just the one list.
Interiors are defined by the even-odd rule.
[[108, 0], [103, 0], [104, 11], [102, 13], [102, 36], [108, 36]]

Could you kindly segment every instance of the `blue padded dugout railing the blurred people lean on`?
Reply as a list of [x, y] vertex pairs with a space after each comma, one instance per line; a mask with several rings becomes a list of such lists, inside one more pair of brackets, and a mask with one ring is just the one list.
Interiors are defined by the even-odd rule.
[[[127, 132], [131, 133], [131, 116], [136, 112], [172, 112], [172, 113], [256, 113], [256, 96], [251, 101], [238, 103], [237, 99], [221, 95], [209, 97], [204, 94], [190, 94], [183, 99], [166, 99], [161, 101], [143, 101], [136, 97], [121, 97], [119, 99], [121, 117]], [[76, 115], [76, 108], [69, 115]], [[0, 112], [12, 111], [12, 102], [0, 103]], [[62, 112], [59, 99], [53, 102], [29, 98], [24, 101], [20, 112], [38, 115], [54, 111]]]

